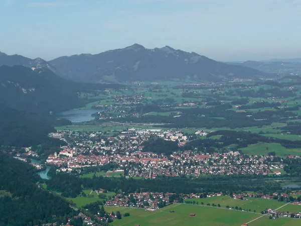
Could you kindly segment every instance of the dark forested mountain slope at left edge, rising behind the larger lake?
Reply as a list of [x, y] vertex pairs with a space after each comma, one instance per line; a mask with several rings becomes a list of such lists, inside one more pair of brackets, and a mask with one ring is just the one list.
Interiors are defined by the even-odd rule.
[[61, 111], [83, 105], [78, 90], [77, 83], [66, 81], [50, 70], [0, 67], [0, 105], [43, 113]]

